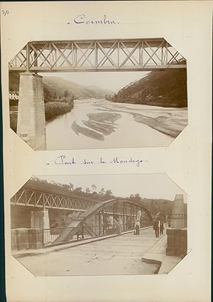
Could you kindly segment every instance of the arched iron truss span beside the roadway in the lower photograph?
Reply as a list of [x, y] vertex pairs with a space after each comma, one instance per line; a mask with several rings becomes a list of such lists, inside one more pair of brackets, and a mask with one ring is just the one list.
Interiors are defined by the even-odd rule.
[[[77, 239], [84, 239], [114, 234], [118, 227], [119, 232], [131, 231], [135, 229], [137, 219], [141, 227], [153, 225], [151, 210], [135, 200], [116, 198], [102, 201], [80, 213], [67, 228], [60, 229], [53, 244], [69, 242], [75, 236]], [[44, 232], [44, 237], [49, 237], [51, 230]]]

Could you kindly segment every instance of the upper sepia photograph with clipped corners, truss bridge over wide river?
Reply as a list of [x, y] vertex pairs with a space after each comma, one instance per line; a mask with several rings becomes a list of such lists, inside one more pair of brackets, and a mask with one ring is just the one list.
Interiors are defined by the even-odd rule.
[[164, 38], [31, 41], [9, 62], [9, 116], [35, 151], [168, 147], [187, 61]]

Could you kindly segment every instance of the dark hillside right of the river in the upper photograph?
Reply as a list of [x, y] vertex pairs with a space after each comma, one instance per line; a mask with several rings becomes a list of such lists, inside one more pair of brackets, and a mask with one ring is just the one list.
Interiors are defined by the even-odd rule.
[[119, 90], [112, 100], [162, 107], [187, 107], [186, 70], [150, 72], [141, 80]]

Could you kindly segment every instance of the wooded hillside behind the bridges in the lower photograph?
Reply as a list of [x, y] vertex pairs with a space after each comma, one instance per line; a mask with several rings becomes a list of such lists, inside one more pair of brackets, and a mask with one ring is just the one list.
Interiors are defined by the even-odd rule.
[[[72, 179], [71, 179], [72, 180]], [[107, 188], [102, 188], [97, 192], [96, 185], [92, 185], [91, 188], [86, 188], [83, 190], [81, 187], [75, 188], [72, 183], [70, 184], [61, 184], [55, 183], [54, 181], [48, 182], [47, 180], [42, 180], [37, 177], [33, 177], [26, 183], [28, 188], [40, 188], [40, 190], [47, 190], [51, 193], [61, 193], [62, 195], [70, 196], [73, 198], [82, 198], [86, 200], [91, 200], [94, 203], [99, 203], [103, 200], [110, 200], [112, 198], [117, 198], [113, 195], [111, 190]], [[156, 215], [158, 212], [162, 211], [165, 215], [171, 215], [173, 202], [165, 199], [151, 199], [151, 198], [141, 198], [139, 194], [131, 195], [130, 200], [136, 200], [138, 203], [146, 205], [149, 207], [153, 215]], [[11, 207], [11, 215], [13, 219], [11, 220], [11, 227], [30, 227], [30, 212], [31, 208], [28, 207]], [[51, 210], [49, 209], [50, 217], [50, 227], [67, 227], [74, 217], [74, 213], [71, 211], [63, 210]]]

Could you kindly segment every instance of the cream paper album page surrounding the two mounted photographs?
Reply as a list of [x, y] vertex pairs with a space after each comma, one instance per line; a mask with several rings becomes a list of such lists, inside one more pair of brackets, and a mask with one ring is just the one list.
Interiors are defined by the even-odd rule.
[[[75, 23], [82, 14], [89, 23]], [[114, 22], [91, 22], [104, 15]], [[162, 37], [187, 59], [188, 125], [170, 146], [33, 151], [10, 129], [8, 63], [28, 41]], [[211, 54], [212, 1], [1, 2], [8, 301], [210, 301]], [[107, 164], [55, 165], [62, 154], [94, 163], [104, 158]], [[141, 164], [109, 164], [116, 156]], [[131, 175], [140, 187], [141, 174], [165, 174], [187, 193], [188, 254], [169, 274], [34, 276], [11, 256], [10, 199], [33, 175], [105, 175], [118, 187], [119, 176]]]

